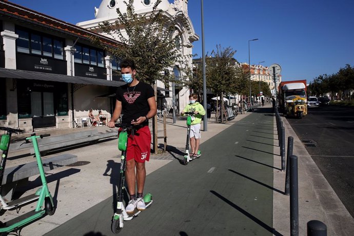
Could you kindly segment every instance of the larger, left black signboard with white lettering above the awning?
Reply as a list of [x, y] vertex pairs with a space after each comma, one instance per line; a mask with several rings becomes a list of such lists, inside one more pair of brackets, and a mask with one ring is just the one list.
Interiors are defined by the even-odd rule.
[[16, 68], [51, 74], [67, 74], [66, 61], [25, 53], [16, 53]]

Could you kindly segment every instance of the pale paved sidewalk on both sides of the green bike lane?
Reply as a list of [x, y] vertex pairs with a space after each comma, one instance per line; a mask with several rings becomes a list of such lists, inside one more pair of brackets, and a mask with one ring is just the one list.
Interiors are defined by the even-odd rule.
[[[258, 109], [269, 109], [269, 105]], [[213, 118], [208, 121], [208, 131], [202, 132], [201, 143], [206, 142], [215, 135], [224, 131], [233, 124], [237, 124], [244, 117], [252, 113], [238, 115], [235, 120], [226, 124], [214, 123]], [[327, 225], [328, 235], [351, 235], [354, 230], [354, 221], [347, 212], [338, 196], [331, 189], [323, 175], [312, 161], [306, 149], [291, 129], [286, 119], [282, 117], [285, 126], [286, 136], [294, 137], [293, 154], [299, 158], [299, 229], [300, 235], [306, 235], [306, 223], [310, 220], [320, 220]], [[240, 122], [242, 124], [242, 122]], [[275, 127], [275, 118], [273, 127]], [[105, 130], [107, 127], [92, 127], [91, 129]], [[39, 133], [51, 133], [52, 135], [64, 134], [87, 130], [88, 128], [76, 128], [55, 131], [41, 131]], [[159, 119], [159, 134], [163, 133], [162, 119]], [[281, 194], [285, 185], [285, 172], [279, 171], [280, 167], [279, 147], [277, 132], [274, 129], [274, 168], [273, 168], [273, 225], [269, 225], [283, 235], [289, 235], [289, 196]], [[147, 174], [163, 167], [171, 161], [182, 160], [186, 142], [186, 121], [183, 117], [177, 119], [176, 124], [172, 124], [172, 119], [167, 119], [167, 151], [165, 153], [151, 155], [150, 161], [146, 164]], [[88, 165], [62, 167], [47, 173], [49, 189], [54, 199], [57, 200], [57, 209], [53, 216], [47, 216], [29, 226], [26, 226], [21, 235], [43, 235], [57, 226], [71, 220], [76, 215], [88, 210], [92, 206], [99, 204], [112, 195], [112, 183], [109, 176], [103, 173], [114, 168], [112, 159], [120, 155], [116, 148], [117, 141], [99, 142], [95, 145], [85, 146], [67, 150], [64, 153], [77, 155], [79, 162], [89, 162]], [[163, 146], [163, 139], [159, 139], [159, 147]], [[12, 154], [12, 155], [11, 155]], [[17, 153], [18, 154], [18, 153]], [[11, 156], [17, 155], [10, 153]], [[53, 154], [55, 155], [55, 154]], [[51, 156], [51, 155], [49, 155]], [[33, 161], [32, 156], [21, 159], [11, 159], [7, 166], [17, 165], [19, 160]], [[192, 163], [191, 163], [192, 164]], [[190, 165], [191, 165], [190, 164]], [[31, 194], [36, 190], [36, 178], [30, 179], [32, 190], [25, 194]], [[329, 199], [329, 197], [331, 197]], [[110, 200], [110, 199], [109, 199]], [[31, 209], [32, 205], [23, 207], [22, 211]], [[262, 213], [262, 212], [260, 212]], [[12, 218], [16, 213], [7, 211], [2, 215], [2, 219]]]

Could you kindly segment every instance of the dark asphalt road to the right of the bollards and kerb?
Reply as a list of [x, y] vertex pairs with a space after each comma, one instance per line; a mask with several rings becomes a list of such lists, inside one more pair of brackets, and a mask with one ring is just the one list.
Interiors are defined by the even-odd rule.
[[[311, 107], [303, 119], [288, 119], [313, 161], [354, 217], [354, 108]], [[314, 145], [311, 145], [314, 144]]]

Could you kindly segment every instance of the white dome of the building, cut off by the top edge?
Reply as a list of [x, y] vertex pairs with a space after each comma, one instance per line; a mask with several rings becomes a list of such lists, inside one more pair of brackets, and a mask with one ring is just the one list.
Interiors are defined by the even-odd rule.
[[[128, 1], [127, 1], [128, 2]], [[144, 12], [151, 11], [151, 8], [156, 3], [156, 0], [134, 0], [134, 10], [135, 12]], [[169, 8], [168, 0], [162, 0], [158, 8], [164, 11], [167, 11]], [[116, 18], [117, 12], [116, 9], [120, 8], [122, 13], [125, 13], [127, 8], [123, 3], [123, 0], [103, 0], [100, 7], [96, 10], [96, 19], [97, 18]]]

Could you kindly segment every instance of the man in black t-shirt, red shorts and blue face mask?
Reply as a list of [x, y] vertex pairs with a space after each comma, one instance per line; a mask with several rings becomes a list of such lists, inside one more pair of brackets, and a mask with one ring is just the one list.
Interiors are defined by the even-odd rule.
[[[124, 112], [122, 123], [136, 126], [134, 136], [129, 135], [128, 138], [125, 171], [130, 195], [130, 201], [125, 209], [127, 213], [132, 213], [135, 208], [138, 210], [146, 208], [143, 200], [146, 178], [145, 161], [149, 161], [151, 143], [148, 120], [156, 115], [157, 108], [152, 87], [136, 79], [134, 62], [124, 60], [120, 66], [122, 80], [127, 84], [117, 88], [115, 108], [108, 127], [115, 127], [114, 123], [119, 119], [122, 111]], [[137, 195], [135, 195], [135, 182]]]

